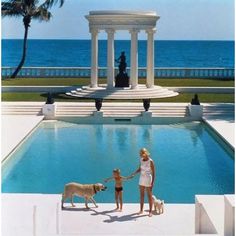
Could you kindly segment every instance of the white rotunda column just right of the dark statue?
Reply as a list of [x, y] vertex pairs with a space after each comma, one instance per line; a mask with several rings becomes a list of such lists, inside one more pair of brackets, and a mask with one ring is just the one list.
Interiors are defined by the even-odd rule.
[[138, 88], [138, 32], [137, 29], [130, 30], [131, 33], [131, 65], [130, 65], [130, 80], [131, 88]]

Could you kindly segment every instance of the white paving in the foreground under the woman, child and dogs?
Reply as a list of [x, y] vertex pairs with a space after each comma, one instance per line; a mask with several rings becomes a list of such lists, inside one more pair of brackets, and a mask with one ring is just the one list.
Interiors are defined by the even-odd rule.
[[137, 215], [139, 204], [124, 203], [123, 212], [115, 212], [114, 204], [101, 203], [87, 210], [83, 199], [75, 208], [68, 203], [61, 210], [60, 204], [61, 195], [2, 194], [3, 235], [194, 234], [194, 204], [166, 204], [164, 214], [153, 217], [147, 211]]

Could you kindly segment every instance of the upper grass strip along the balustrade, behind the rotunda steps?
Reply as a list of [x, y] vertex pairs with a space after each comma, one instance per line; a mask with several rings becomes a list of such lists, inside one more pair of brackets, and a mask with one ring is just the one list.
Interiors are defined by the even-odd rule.
[[[106, 79], [99, 78], [100, 84]], [[3, 79], [3, 86], [80, 86], [88, 85], [89, 78], [17, 78]], [[146, 79], [140, 78], [140, 84], [145, 84]], [[234, 80], [225, 79], [155, 79], [155, 84], [166, 87], [234, 87]]]

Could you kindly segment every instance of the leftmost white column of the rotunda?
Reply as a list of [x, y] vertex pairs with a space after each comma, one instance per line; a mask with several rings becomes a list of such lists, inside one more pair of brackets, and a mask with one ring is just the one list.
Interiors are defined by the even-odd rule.
[[90, 30], [91, 40], [91, 83], [92, 88], [98, 86], [98, 30]]

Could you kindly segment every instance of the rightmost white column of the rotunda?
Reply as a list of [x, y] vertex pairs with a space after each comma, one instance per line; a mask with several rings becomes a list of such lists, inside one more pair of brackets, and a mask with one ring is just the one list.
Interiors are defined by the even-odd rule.
[[146, 30], [147, 33], [147, 88], [154, 86], [154, 29]]

